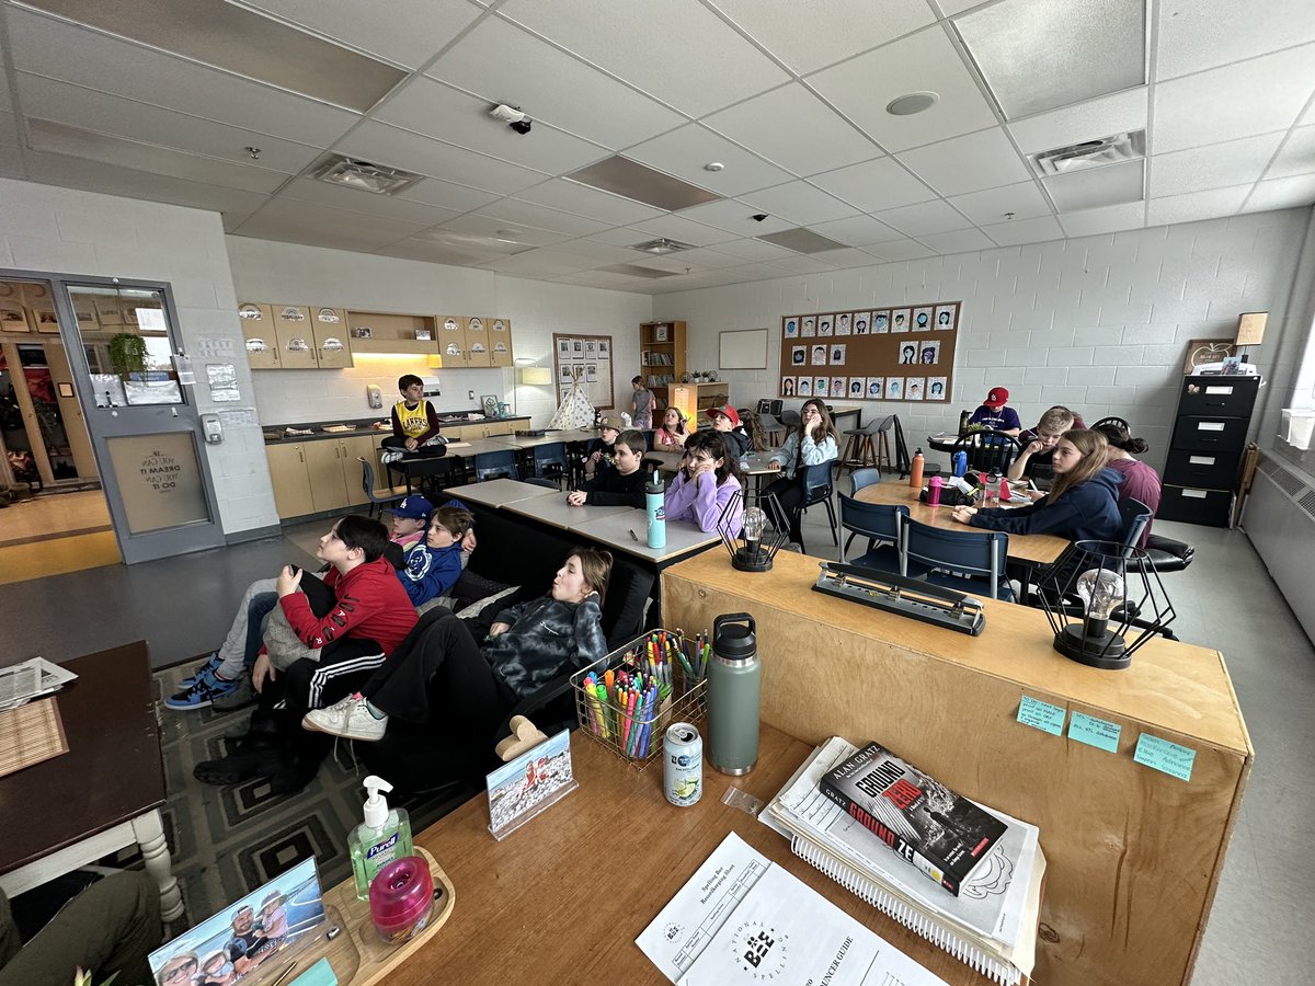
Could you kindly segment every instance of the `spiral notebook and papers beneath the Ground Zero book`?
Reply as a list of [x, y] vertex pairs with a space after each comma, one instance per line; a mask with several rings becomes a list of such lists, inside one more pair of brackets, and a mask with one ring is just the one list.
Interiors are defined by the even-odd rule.
[[821, 776], [853, 749], [840, 738], [818, 747], [759, 819], [785, 835], [800, 858], [938, 948], [1003, 986], [1020, 983], [1035, 961], [1045, 872], [1035, 826], [981, 806], [1009, 831], [990, 865], [955, 897], [818, 790]]

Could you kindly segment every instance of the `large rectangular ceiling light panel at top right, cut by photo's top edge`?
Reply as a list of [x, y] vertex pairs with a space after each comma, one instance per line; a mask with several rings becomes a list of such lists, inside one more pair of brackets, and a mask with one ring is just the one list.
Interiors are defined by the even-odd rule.
[[1007, 120], [1147, 82], [1144, 0], [1003, 0], [953, 25]]

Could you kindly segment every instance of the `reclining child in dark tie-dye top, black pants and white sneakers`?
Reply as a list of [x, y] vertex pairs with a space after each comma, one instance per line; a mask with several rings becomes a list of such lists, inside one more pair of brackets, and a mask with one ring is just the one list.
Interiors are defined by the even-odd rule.
[[[483, 643], [451, 613], [427, 614], [360, 692], [306, 713], [306, 730], [379, 740], [388, 718], [442, 719], [492, 745], [493, 731], [517, 701], [608, 653], [602, 601], [611, 553], [577, 548], [558, 569], [547, 596], [497, 614]], [[434, 678], [439, 688], [430, 689]], [[431, 706], [430, 697], [441, 705]]]

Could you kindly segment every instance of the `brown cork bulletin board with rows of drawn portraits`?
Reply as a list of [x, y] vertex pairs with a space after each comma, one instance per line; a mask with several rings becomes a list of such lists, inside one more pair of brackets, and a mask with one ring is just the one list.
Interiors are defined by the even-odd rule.
[[781, 397], [948, 404], [959, 301], [781, 318]]

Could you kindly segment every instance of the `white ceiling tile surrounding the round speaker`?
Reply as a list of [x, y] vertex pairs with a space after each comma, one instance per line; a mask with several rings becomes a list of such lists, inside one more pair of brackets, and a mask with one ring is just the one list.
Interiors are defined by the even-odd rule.
[[[810, 75], [807, 82], [888, 151], [944, 141], [995, 122], [939, 26]], [[914, 116], [886, 113], [890, 100], [909, 92], [935, 92], [940, 100]]]

